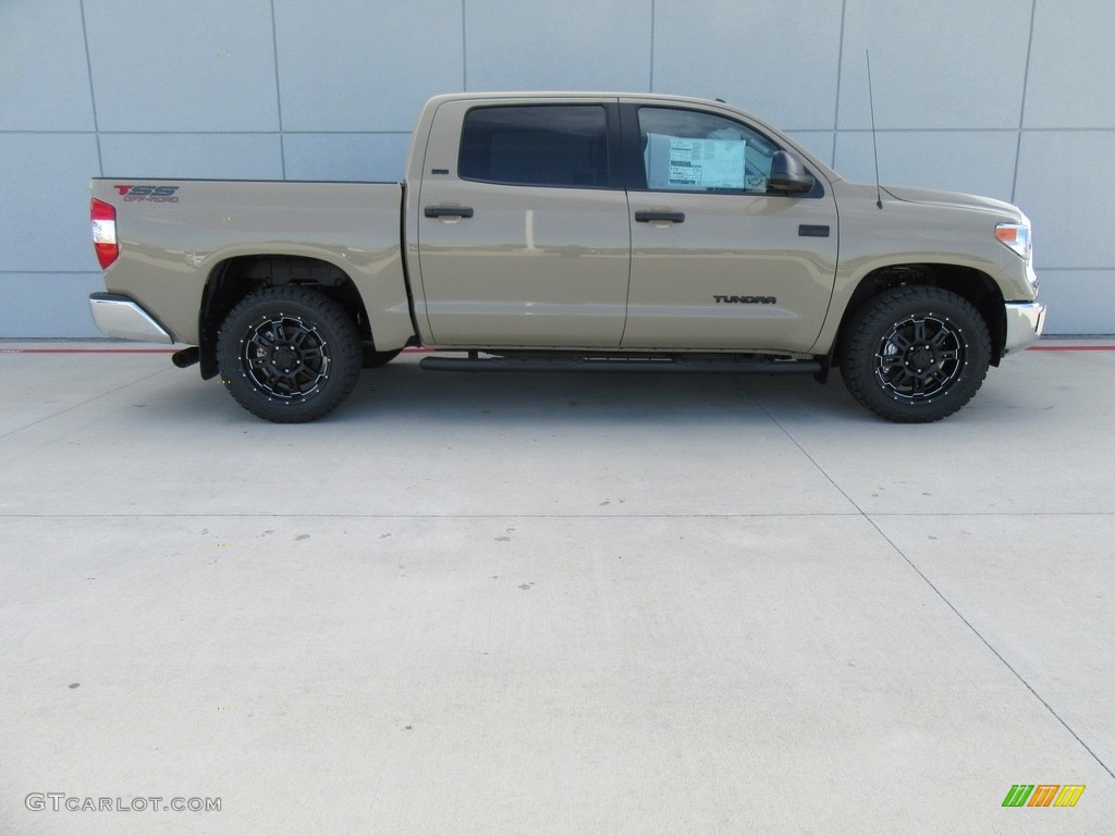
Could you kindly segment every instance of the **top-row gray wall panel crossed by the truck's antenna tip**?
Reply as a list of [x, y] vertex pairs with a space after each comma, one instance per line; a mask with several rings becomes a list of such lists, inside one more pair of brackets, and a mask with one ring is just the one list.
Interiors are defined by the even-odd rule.
[[1030, 0], [847, 0], [840, 127], [1017, 128]]

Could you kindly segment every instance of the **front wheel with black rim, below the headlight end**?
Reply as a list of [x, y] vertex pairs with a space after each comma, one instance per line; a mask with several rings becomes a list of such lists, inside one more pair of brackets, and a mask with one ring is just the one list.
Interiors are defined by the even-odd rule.
[[903, 285], [869, 301], [849, 324], [841, 375], [871, 411], [899, 424], [952, 415], [987, 376], [991, 337], [967, 300]]

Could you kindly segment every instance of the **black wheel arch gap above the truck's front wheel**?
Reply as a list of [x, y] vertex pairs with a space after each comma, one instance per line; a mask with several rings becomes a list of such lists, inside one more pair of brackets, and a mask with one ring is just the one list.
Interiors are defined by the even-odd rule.
[[991, 364], [998, 366], [1002, 359], [1002, 346], [1007, 333], [1007, 319], [1002, 291], [987, 273], [957, 264], [891, 264], [873, 270], [856, 285], [844, 315], [841, 318], [833, 347], [833, 366], [840, 366], [843, 346], [847, 339], [847, 325], [856, 313], [872, 299], [891, 288], [904, 284], [940, 288], [956, 293], [970, 302], [987, 323], [991, 336]]

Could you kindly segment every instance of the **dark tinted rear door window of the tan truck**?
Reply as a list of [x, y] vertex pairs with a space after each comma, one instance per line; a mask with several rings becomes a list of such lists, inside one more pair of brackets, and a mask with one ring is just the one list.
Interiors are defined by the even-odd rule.
[[608, 185], [608, 119], [601, 105], [477, 107], [465, 115], [463, 179], [522, 186]]

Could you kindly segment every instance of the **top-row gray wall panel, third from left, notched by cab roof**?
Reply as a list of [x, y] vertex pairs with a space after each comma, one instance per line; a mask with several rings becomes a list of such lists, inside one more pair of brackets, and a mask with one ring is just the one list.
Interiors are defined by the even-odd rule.
[[410, 130], [464, 86], [460, 0], [275, 0], [284, 130]]

